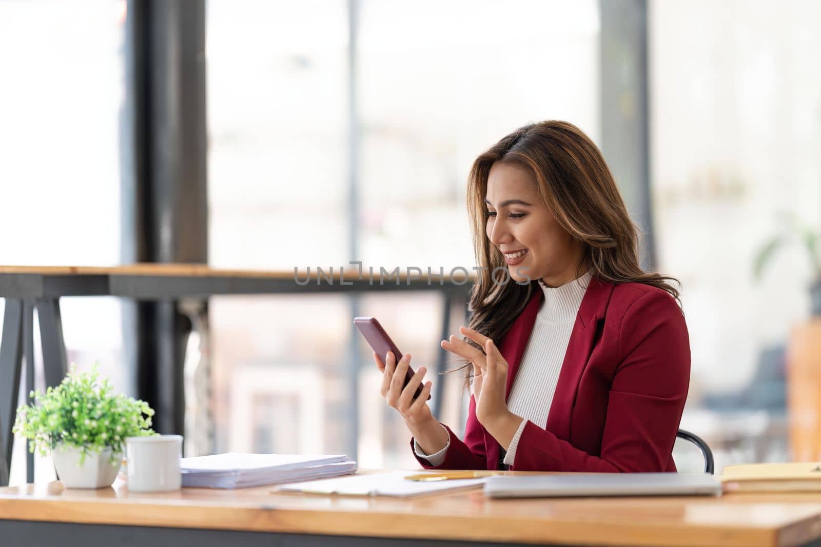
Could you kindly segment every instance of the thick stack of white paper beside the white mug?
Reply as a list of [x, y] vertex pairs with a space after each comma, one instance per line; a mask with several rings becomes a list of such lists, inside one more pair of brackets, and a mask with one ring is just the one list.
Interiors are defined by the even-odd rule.
[[342, 454], [214, 454], [182, 458], [183, 486], [245, 488], [282, 482], [313, 481], [356, 471], [356, 462]]

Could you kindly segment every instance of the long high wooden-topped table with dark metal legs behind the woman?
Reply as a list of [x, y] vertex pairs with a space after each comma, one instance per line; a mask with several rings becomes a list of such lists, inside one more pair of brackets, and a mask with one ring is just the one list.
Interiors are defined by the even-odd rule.
[[[194, 325], [205, 328], [208, 324], [207, 307], [204, 299], [218, 294], [340, 294], [396, 291], [436, 291], [443, 296], [440, 334], [443, 340], [451, 333], [450, 317], [452, 309], [461, 308], [466, 313], [467, 294], [476, 280], [475, 272], [465, 269], [454, 270], [453, 276], [438, 271], [427, 275], [427, 271], [416, 276], [408, 271], [394, 268], [380, 275], [382, 269], [363, 266], [360, 278], [359, 268], [342, 265], [333, 271], [323, 267], [322, 274], [316, 267], [310, 271], [256, 271], [219, 270], [201, 264], [133, 264], [119, 267], [10, 267], [0, 266], [0, 298], [6, 299], [0, 340], [0, 486], [8, 484], [11, 458], [11, 426], [14, 424], [17, 408], [18, 385], [21, 378], [21, 362], [26, 355], [34, 355], [33, 315], [36, 308], [43, 345], [44, 376], [46, 385], [58, 385], [67, 372], [66, 348], [62, 336], [62, 318], [59, 299], [64, 296], [117, 296], [135, 300], [158, 300], [169, 303], [171, 313], [163, 313], [157, 321], [163, 321], [163, 331], [175, 331], [173, 311], [184, 312]], [[393, 274], [397, 275], [393, 275]], [[177, 305], [181, 301], [195, 306]], [[165, 308], [164, 308], [165, 309]], [[351, 317], [352, 319], [352, 317]], [[351, 324], [351, 352], [359, 347], [359, 335], [353, 333]], [[201, 336], [207, 333], [200, 332]], [[167, 351], [158, 354], [156, 380], [163, 389], [159, 400], [149, 401], [157, 410], [154, 424], [163, 433], [184, 434], [185, 390], [182, 385], [182, 359], [187, 340], [172, 340]], [[444, 370], [447, 352], [439, 348], [438, 370], [431, 370], [431, 376]], [[364, 358], [369, 361], [370, 358]], [[356, 393], [359, 359], [351, 358], [348, 363], [348, 390]], [[25, 362], [33, 362], [26, 358]], [[139, 371], [138, 371], [139, 374]], [[34, 377], [33, 367], [27, 369], [27, 378]], [[201, 377], [209, 375], [203, 373]], [[34, 389], [27, 381], [24, 393]], [[207, 389], [201, 389], [207, 392]], [[437, 390], [432, 400], [432, 410], [441, 408], [444, 390]], [[25, 401], [26, 403], [28, 401]], [[351, 404], [351, 431], [347, 436], [355, 440], [355, 403]], [[210, 447], [213, 449], [213, 447]], [[210, 450], [206, 449], [208, 453]], [[355, 455], [355, 442], [347, 451]], [[32, 460], [29, 458], [29, 481], [33, 481]]]

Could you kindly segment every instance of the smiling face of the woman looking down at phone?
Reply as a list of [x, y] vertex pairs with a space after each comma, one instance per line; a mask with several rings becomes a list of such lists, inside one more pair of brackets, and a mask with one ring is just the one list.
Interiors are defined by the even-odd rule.
[[558, 287], [578, 277], [583, 245], [553, 217], [529, 169], [493, 163], [484, 204], [488, 239], [504, 253], [513, 280], [525, 281], [529, 276], [543, 280], [548, 287]]

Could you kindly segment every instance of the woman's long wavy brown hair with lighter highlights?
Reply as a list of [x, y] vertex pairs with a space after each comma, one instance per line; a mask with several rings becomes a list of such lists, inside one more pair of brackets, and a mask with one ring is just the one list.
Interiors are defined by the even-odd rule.
[[[488, 173], [495, 162], [524, 166], [534, 173], [539, 194], [559, 224], [584, 248], [577, 267], [585, 267], [594, 277], [612, 283], [637, 282], [667, 291], [681, 305], [681, 283], [673, 277], [642, 271], [639, 265], [640, 231], [631, 220], [616, 181], [599, 148], [576, 125], [566, 121], [543, 121], [525, 125], [508, 134], [476, 158], [467, 183], [467, 208], [473, 235], [479, 278], [470, 292], [470, 328], [495, 342], [502, 338], [530, 301], [538, 280], [520, 285], [507, 276], [501, 251], [485, 231], [487, 212], [484, 198]], [[496, 283], [493, 283], [494, 268]], [[508, 280], [509, 282], [505, 282]], [[471, 340], [466, 341], [479, 348]], [[481, 348], [479, 348], [481, 349]], [[473, 367], [463, 362], [466, 385]]]

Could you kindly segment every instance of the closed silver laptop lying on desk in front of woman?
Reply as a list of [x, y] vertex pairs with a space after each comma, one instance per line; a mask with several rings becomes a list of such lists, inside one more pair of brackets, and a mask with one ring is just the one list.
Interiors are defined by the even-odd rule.
[[721, 495], [721, 481], [703, 473], [568, 473], [491, 476], [484, 483], [490, 498], [579, 496]]

